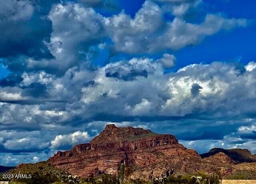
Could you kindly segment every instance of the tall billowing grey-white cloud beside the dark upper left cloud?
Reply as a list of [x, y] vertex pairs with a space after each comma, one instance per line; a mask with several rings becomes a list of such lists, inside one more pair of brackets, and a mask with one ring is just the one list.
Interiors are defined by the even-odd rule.
[[88, 61], [89, 47], [98, 44], [105, 36], [103, 17], [94, 9], [85, 8], [81, 4], [56, 4], [49, 18], [53, 32], [46, 45], [54, 59], [28, 59], [29, 68], [42, 68], [63, 74], [81, 61]]

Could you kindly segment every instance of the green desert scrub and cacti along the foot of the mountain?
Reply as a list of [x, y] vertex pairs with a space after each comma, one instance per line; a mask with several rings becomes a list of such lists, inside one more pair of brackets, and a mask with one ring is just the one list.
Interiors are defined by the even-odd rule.
[[[130, 176], [134, 172], [131, 167], [124, 169], [124, 164], [120, 165], [118, 178], [116, 175], [102, 174], [97, 177], [79, 178], [57, 169], [47, 162], [37, 164], [22, 164], [13, 169], [9, 174], [32, 174], [32, 178], [19, 178], [10, 180], [10, 184], [219, 184], [219, 172], [207, 174], [200, 171], [183, 176], [170, 175], [162, 182], [158, 180], [146, 181], [143, 179], [132, 179]], [[226, 177], [233, 179], [233, 175]], [[234, 173], [234, 179], [256, 179], [256, 171], [239, 171]], [[1, 179], [6, 180], [6, 179]]]

